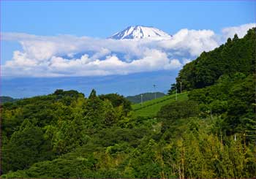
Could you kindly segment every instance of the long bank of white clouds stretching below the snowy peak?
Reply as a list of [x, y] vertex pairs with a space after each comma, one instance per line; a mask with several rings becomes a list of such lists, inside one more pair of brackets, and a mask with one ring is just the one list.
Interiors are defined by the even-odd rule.
[[[180, 69], [203, 51], [213, 50], [234, 33], [244, 36], [255, 24], [211, 30], [181, 29], [170, 39], [96, 39], [60, 35], [43, 37], [5, 33], [3, 40], [20, 42], [22, 51], [2, 66], [4, 76], [94, 76]], [[221, 36], [222, 38], [219, 38]], [[220, 39], [223, 41], [221, 42]], [[78, 56], [79, 55], [79, 56]]]

